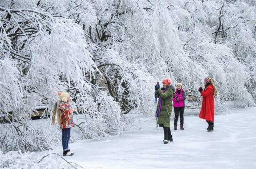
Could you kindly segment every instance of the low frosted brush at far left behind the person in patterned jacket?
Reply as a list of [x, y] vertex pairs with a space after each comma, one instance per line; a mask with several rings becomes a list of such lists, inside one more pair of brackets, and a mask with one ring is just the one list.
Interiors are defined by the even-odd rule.
[[[10, 132], [11, 131], [11, 132]], [[61, 130], [58, 126], [50, 126], [50, 122], [40, 124], [1, 124], [1, 150], [43, 151], [61, 145]], [[71, 131], [70, 142], [80, 140], [80, 136]]]

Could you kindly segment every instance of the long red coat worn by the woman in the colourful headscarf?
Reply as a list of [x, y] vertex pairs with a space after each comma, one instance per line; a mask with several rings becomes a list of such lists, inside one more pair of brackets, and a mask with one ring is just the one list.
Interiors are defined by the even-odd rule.
[[203, 96], [202, 107], [199, 114], [200, 118], [206, 121], [214, 121], [214, 96], [213, 96], [213, 86], [209, 85], [201, 92]]

